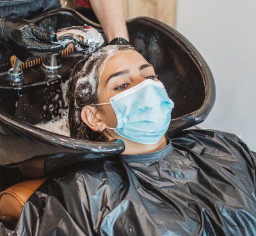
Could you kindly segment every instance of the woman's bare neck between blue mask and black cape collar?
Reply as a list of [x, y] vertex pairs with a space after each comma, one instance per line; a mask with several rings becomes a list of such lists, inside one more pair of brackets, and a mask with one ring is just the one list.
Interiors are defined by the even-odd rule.
[[163, 136], [163, 138], [161, 138], [161, 140], [156, 144], [138, 144], [136, 142], [132, 142], [127, 139], [125, 139], [124, 142], [125, 142], [125, 151], [122, 152], [122, 154], [125, 154], [125, 155], [136, 155], [136, 154], [156, 152], [158, 150], [163, 149], [167, 145], [165, 136]]

